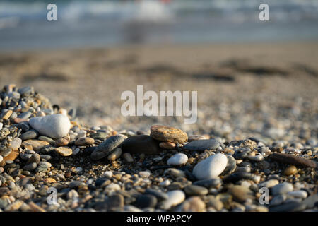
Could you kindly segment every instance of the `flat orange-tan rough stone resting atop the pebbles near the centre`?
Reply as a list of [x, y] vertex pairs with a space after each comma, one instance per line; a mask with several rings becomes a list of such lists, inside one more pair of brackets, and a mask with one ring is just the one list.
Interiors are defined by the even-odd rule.
[[181, 129], [169, 126], [151, 126], [151, 136], [157, 141], [168, 141], [172, 143], [184, 143], [188, 141], [187, 133]]

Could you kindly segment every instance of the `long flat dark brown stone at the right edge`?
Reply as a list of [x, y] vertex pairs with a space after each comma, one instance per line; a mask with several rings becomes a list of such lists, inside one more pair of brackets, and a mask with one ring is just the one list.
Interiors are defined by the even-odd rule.
[[304, 157], [299, 157], [299, 156], [285, 154], [285, 153], [273, 153], [269, 155], [269, 157], [271, 157], [272, 160], [289, 164], [289, 165], [318, 168], [317, 162], [314, 162], [313, 160], [307, 160]]

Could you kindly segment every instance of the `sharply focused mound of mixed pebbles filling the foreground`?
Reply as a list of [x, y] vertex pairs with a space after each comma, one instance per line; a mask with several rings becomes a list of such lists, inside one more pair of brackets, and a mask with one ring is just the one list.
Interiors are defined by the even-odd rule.
[[[0, 211], [318, 210], [312, 138], [89, 128], [32, 87], [6, 85], [0, 98]], [[264, 187], [269, 203], [259, 201]]]

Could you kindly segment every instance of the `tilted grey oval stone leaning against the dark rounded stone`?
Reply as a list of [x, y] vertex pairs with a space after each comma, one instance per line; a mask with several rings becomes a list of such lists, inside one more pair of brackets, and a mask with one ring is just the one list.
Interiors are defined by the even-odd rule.
[[126, 136], [121, 134], [110, 136], [110, 138], [107, 138], [106, 141], [100, 143], [100, 145], [93, 150], [93, 153], [90, 155], [90, 157], [93, 160], [100, 160], [103, 157], [110, 155], [115, 148], [123, 143], [125, 138]]

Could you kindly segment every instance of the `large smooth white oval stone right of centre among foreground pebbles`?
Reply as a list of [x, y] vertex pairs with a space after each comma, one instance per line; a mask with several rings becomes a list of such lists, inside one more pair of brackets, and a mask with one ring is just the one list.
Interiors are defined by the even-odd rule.
[[196, 164], [192, 173], [197, 179], [212, 179], [218, 177], [227, 165], [226, 155], [218, 153]]

